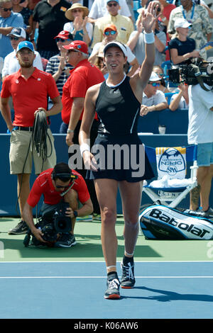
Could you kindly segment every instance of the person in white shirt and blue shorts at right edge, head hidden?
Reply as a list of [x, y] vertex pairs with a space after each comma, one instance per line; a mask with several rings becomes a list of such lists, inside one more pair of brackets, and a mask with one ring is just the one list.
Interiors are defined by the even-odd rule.
[[[213, 85], [213, 81], [212, 81]], [[212, 86], [204, 84], [205, 88]], [[200, 84], [190, 85], [188, 143], [197, 145], [197, 184], [190, 193], [190, 209], [202, 211], [213, 217], [209, 207], [209, 194], [213, 176], [213, 91], [206, 91]]]

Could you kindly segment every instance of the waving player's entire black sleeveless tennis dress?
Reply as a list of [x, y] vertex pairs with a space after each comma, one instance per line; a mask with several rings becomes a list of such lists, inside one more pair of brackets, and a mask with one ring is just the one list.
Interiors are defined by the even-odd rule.
[[129, 77], [124, 77], [117, 86], [102, 83], [96, 102], [99, 129], [91, 149], [99, 169], [87, 171], [87, 178], [129, 182], [153, 178], [137, 132], [140, 108]]

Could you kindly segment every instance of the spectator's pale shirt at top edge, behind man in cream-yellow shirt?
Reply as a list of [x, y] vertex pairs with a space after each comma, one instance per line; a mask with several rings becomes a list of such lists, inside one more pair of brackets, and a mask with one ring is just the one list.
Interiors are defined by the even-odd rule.
[[[106, 0], [94, 0], [92, 8], [89, 11], [89, 21], [95, 23], [97, 18], [107, 16], [107, 1]], [[131, 18], [131, 12], [126, 4], [126, 0], [119, 0], [119, 14]]]

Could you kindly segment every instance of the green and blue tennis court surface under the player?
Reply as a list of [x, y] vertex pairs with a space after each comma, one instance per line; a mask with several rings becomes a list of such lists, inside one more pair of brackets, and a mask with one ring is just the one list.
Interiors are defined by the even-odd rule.
[[[136, 286], [105, 300], [101, 223], [79, 222], [70, 249], [24, 247], [17, 224], [0, 218], [1, 319], [212, 319], [213, 241], [151, 241], [138, 236]], [[124, 254], [118, 219], [117, 269]]]

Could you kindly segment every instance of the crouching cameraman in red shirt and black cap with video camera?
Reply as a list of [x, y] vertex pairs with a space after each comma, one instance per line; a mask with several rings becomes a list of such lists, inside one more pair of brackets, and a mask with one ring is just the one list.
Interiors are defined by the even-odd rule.
[[[35, 225], [33, 208], [42, 195], [44, 203]], [[82, 204], [80, 208], [79, 203]], [[92, 201], [82, 176], [71, 170], [68, 164], [58, 163], [35, 179], [23, 209], [24, 220], [30, 229], [23, 243], [28, 246], [32, 237], [34, 245], [72, 247], [76, 244], [74, 227], [77, 216], [92, 211]]]

